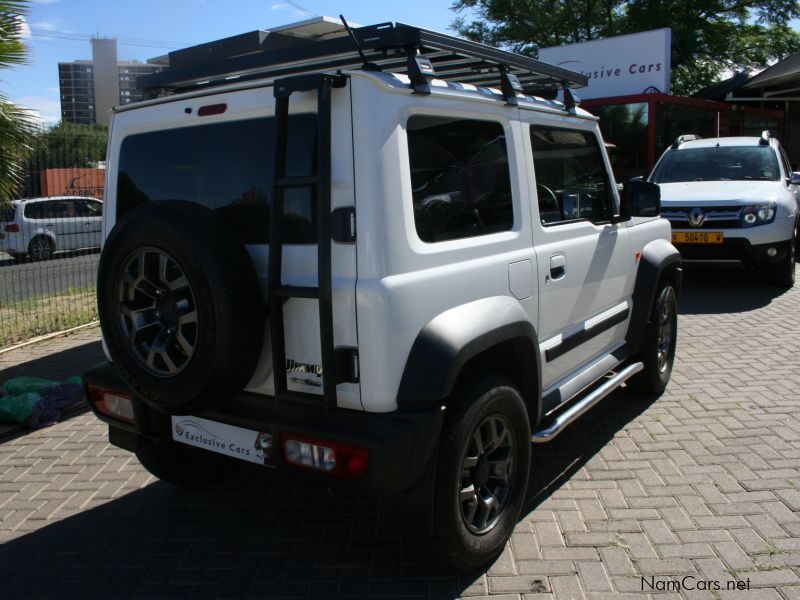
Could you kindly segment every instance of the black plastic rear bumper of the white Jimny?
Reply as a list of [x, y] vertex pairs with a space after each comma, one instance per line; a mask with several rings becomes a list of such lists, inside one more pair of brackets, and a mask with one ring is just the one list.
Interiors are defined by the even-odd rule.
[[[135, 398], [111, 363], [101, 363], [87, 371], [84, 382]], [[172, 440], [170, 416], [149, 408], [141, 401], [134, 400], [134, 424], [109, 418], [99, 413], [94, 405], [92, 410], [99, 419], [108, 423], [110, 442], [126, 450], [135, 451], [140, 437]], [[435, 456], [444, 417], [438, 407], [384, 414], [348, 409], [325, 412], [315, 407], [279, 405], [273, 397], [248, 393], [226, 401], [224, 411], [217, 407], [194, 414], [212, 421], [272, 433], [275, 440], [279, 439], [280, 433], [294, 433], [364, 448], [369, 452], [369, 469], [357, 481], [342, 481], [294, 468], [284, 463], [281, 452], [276, 453], [275, 466], [328, 485], [346, 485], [378, 496], [407, 491], [424, 478]]]

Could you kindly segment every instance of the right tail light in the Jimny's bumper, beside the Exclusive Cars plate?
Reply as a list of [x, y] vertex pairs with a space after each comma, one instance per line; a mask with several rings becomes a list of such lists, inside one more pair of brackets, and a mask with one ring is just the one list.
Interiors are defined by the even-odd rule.
[[300, 469], [327, 473], [341, 479], [360, 479], [369, 468], [369, 453], [328, 440], [282, 433], [283, 459]]

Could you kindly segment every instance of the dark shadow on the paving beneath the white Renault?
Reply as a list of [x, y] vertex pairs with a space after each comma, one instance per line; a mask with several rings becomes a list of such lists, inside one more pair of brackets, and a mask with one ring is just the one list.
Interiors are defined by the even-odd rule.
[[786, 290], [741, 267], [684, 265], [678, 300], [682, 315], [739, 313], [767, 306]]

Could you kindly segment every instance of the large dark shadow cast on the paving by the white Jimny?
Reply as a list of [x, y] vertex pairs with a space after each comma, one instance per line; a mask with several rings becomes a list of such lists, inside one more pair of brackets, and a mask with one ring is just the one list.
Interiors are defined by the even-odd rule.
[[[584, 417], [591, 425], [535, 447], [522, 518], [647, 406], [617, 393]], [[129, 480], [138, 469], [130, 460], [98, 475], [103, 489]], [[373, 498], [244, 464], [226, 485], [151, 483], [7, 541], [0, 590], [5, 598], [454, 598], [491, 567], [458, 575], [421, 550], [378, 527]]]

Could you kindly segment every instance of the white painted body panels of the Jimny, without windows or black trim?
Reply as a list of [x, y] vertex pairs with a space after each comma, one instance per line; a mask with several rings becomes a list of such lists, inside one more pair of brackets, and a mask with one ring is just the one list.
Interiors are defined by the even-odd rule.
[[[624, 343], [628, 320], [547, 364], [547, 348], [564, 336], [630, 307], [636, 274], [635, 250], [655, 238], [668, 239], [663, 219], [628, 223], [572, 222], [543, 227], [538, 217], [528, 127], [568, 126], [599, 137], [597, 122], [556, 102], [499, 102], [496, 90], [432, 82], [430, 95], [413, 94], [401, 75], [347, 73], [347, 86], [332, 93], [332, 208], [356, 207], [357, 243], [332, 243], [335, 346], [356, 347], [360, 384], [339, 384], [339, 406], [370, 412], [397, 409], [397, 392], [409, 352], [420, 331], [442, 312], [492, 296], [515, 298], [539, 333], [542, 387], [555, 387], [598, 356]], [[197, 117], [203, 105], [224, 103], [224, 114]], [[290, 110], [315, 110], [314, 93], [297, 93]], [[116, 205], [120, 147], [129, 135], [195, 127], [274, 114], [271, 85], [217, 88], [121, 109], [113, 119], [106, 182], [107, 206]], [[514, 224], [510, 231], [436, 243], [417, 235], [405, 126], [412, 115], [489, 120], [504, 130], [508, 148]], [[603, 161], [613, 186], [605, 151]], [[614, 189], [616, 189], [614, 187]], [[615, 203], [618, 199], [615, 194]], [[104, 239], [116, 220], [104, 215]], [[390, 242], [390, 243], [387, 243]], [[248, 246], [266, 293], [268, 247]], [[549, 281], [550, 259], [563, 254], [568, 276]], [[285, 245], [283, 283], [314, 286], [317, 247]], [[285, 307], [286, 356], [320, 364], [315, 301], [291, 299]], [[247, 391], [272, 395], [272, 356], [266, 323], [264, 348]], [[108, 354], [108, 353], [107, 353]], [[531, 369], [535, 365], [530, 365]], [[320, 393], [291, 381], [289, 388]]]

